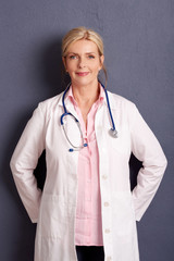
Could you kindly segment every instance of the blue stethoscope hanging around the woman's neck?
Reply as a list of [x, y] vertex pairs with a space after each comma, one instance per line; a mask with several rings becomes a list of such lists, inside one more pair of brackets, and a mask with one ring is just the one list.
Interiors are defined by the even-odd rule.
[[[100, 82], [99, 82], [99, 83], [100, 83]], [[109, 134], [110, 134], [113, 138], [117, 138], [117, 130], [116, 130], [116, 128], [115, 128], [115, 124], [114, 124], [114, 121], [113, 121], [113, 116], [112, 116], [112, 112], [111, 112], [111, 107], [110, 107], [110, 101], [109, 101], [109, 97], [108, 97], [108, 91], [107, 91], [104, 85], [103, 85], [102, 83], [100, 83], [100, 84], [101, 84], [101, 86], [102, 86], [102, 88], [103, 88], [103, 90], [104, 90], [104, 94], [105, 94], [108, 110], [109, 110], [110, 120], [111, 120], [111, 124], [112, 124], [112, 127], [109, 129]], [[71, 112], [67, 112], [66, 107], [65, 107], [65, 103], [64, 103], [65, 96], [66, 96], [66, 92], [67, 92], [69, 89], [70, 89], [70, 86], [71, 86], [71, 83], [67, 85], [67, 87], [66, 87], [66, 89], [65, 89], [65, 91], [63, 92], [63, 96], [62, 96], [62, 104], [63, 104], [64, 113], [61, 115], [61, 119], [60, 119], [60, 120], [61, 120], [61, 125], [62, 125], [62, 127], [63, 127], [63, 132], [64, 132], [64, 134], [65, 134], [65, 137], [66, 137], [69, 144], [72, 146], [72, 148], [69, 149], [69, 151], [70, 151], [70, 152], [73, 152], [73, 151], [75, 151], [75, 150], [80, 150], [80, 149], [83, 149], [84, 147], [87, 147], [88, 145], [87, 145], [87, 142], [85, 142], [85, 139], [84, 139], [84, 137], [83, 137], [83, 132], [82, 132], [82, 128], [80, 128], [79, 121], [78, 121]], [[82, 142], [80, 146], [75, 146], [75, 145], [73, 145], [73, 142], [70, 140], [70, 138], [69, 138], [69, 136], [67, 136], [67, 133], [66, 133], [65, 127], [64, 127], [64, 122], [63, 122], [66, 116], [71, 116], [71, 117], [74, 120], [74, 122], [77, 124], [77, 126], [78, 126], [79, 134], [80, 134], [82, 140], [83, 140], [83, 142]]]

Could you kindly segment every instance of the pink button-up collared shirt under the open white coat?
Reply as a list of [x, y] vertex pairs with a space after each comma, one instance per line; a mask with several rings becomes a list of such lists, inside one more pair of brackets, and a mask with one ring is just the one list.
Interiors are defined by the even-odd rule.
[[95, 116], [102, 103], [104, 91], [100, 86], [99, 99], [92, 104], [87, 115], [87, 128], [82, 112], [75, 101], [72, 87], [67, 97], [77, 112], [87, 147], [79, 150], [78, 156], [78, 191], [75, 226], [75, 245], [103, 246], [101, 224], [101, 198], [99, 182], [99, 154], [95, 134]]

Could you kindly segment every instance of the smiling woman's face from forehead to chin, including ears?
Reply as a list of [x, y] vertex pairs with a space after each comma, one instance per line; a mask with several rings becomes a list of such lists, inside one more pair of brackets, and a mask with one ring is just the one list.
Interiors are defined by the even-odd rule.
[[73, 85], [87, 86], [98, 82], [103, 60], [94, 41], [82, 39], [70, 45], [63, 63]]

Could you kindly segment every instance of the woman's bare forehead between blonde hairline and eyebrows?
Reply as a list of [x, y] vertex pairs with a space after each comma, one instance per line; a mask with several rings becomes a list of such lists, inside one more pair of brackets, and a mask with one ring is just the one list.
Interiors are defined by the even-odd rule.
[[91, 40], [77, 40], [75, 42], [72, 42], [67, 49], [67, 52], [98, 52], [97, 45]]

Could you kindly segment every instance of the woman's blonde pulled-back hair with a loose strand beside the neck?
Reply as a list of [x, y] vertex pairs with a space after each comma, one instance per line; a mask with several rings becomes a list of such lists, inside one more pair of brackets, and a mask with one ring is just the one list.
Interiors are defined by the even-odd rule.
[[[100, 57], [103, 55], [104, 47], [103, 47], [103, 40], [102, 40], [101, 36], [98, 33], [96, 33], [94, 29], [86, 28], [84, 26], [79, 26], [79, 27], [71, 29], [63, 37], [63, 39], [62, 39], [62, 57], [66, 58], [67, 50], [69, 50], [69, 47], [71, 44], [73, 44], [77, 40], [82, 40], [82, 39], [94, 41], [97, 45], [99, 55]], [[108, 76], [107, 76], [107, 70], [105, 70], [104, 64], [102, 64], [102, 70], [104, 72], [105, 85], [107, 85]]]

